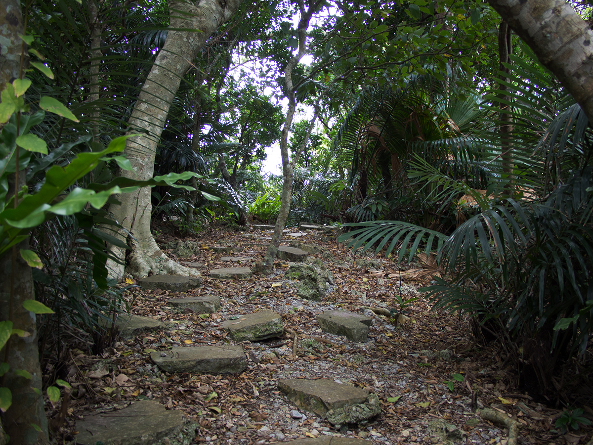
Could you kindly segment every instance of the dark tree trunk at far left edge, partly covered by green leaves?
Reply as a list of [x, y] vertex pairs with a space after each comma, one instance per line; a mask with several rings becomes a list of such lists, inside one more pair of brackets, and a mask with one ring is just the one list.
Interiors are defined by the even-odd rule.
[[[0, 30], [4, 40], [0, 54], [0, 89], [7, 82], [20, 78], [27, 68], [27, 48], [19, 37], [24, 34], [23, 15], [18, 0], [0, 0]], [[25, 59], [22, 61], [21, 56]], [[9, 177], [9, 193], [25, 185], [25, 171]], [[15, 185], [18, 184], [18, 187]], [[9, 195], [8, 195], [9, 196]], [[2, 422], [10, 443], [47, 443], [47, 417], [41, 395], [42, 373], [39, 365], [37, 326], [35, 314], [23, 307], [25, 300], [34, 300], [33, 275], [31, 268], [19, 255], [20, 249], [27, 249], [28, 241], [14, 246], [11, 253], [0, 258], [0, 321], [10, 320], [13, 329], [21, 329], [28, 336], [13, 335], [0, 351], [0, 362], [8, 363], [9, 371], [0, 380], [12, 393], [12, 405], [2, 414]], [[25, 379], [14, 373], [24, 370], [31, 375]], [[32, 425], [37, 425], [37, 431]], [[1, 425], [0, 425], [1, 426]], [[1, 436], [1, 435], [0, 435]]]

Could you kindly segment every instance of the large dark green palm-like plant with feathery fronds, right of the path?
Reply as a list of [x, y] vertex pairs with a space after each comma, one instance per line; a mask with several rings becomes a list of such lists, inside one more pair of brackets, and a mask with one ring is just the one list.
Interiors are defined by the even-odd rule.
[[[427, 199], [468, 203], [458, 227], [365, 222], [342, 239], [353, 237], [353, 247], [377, 253], [396, 250], [399, 260], [436, 252], [447, 275], [424, 289], [433, 307], [473, 317], [477, 332], [499, 339], [525, 383], [550, 397], [568, 383], [554, 377], [562, 375], [559, 367], [573, 355], [584, 357], [593, 329], [591, 131], [547, 72], [517, 62], [512, 174], [503, 173], [496, 134], [482, 136], [486, 175], [479, 181], [482, 173], [416, 158], [408, 176], [422, 180]], [[564, 108], [556, 112], [558, 106]], [[477, 189], [482, 182], [484, 190]]]

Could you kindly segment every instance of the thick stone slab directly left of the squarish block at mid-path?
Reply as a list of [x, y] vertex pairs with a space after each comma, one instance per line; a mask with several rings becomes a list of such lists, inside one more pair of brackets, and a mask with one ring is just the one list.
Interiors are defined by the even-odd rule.
[[228, 330], [234, 341], [257, 342], [267, 338], [278, 337], [284, 333], [282, 317], [271, 310], [262, 310], [246, 314], [236, 320], [227, 320], [220, 324]]

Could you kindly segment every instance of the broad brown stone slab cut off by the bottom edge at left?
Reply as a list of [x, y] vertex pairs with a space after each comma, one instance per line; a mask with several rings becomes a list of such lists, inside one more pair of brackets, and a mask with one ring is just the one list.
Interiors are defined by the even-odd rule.
[[76, 421], [79, 445], [189, 445], [196, 424], [177, 409], [165, 409], [154, 400], [138, 400], [124, 409], [103, 412]]

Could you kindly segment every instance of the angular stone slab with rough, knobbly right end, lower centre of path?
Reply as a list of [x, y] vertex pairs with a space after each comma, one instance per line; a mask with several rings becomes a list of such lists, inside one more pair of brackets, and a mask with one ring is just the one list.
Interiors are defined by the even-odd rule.
[[292, 403], [333, 425], [363, 422], [381, 412], [377, 395], [333, 380], [283, 379], [278, 387]]

